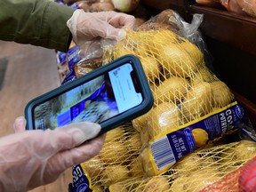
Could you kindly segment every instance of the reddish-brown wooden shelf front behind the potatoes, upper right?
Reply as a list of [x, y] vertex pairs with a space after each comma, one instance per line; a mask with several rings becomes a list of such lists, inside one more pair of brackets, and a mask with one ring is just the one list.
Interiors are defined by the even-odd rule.
[[256, 55], [255, 18], [198, 4], [190, 5], [190, 10], [192, 13], [204, 14], [200, 28], [204, 36]]

